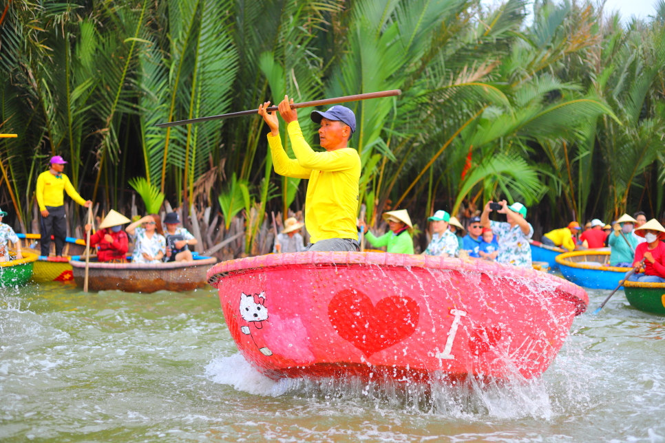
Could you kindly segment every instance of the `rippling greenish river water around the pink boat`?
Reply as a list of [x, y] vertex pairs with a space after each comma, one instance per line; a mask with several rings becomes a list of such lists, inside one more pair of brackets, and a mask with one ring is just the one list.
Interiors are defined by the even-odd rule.
[[0, 288], [0, 441], [665, 442], [664, 338], [620, 291], [542, 379], [425, 396], [264, 378], [214, 290]]

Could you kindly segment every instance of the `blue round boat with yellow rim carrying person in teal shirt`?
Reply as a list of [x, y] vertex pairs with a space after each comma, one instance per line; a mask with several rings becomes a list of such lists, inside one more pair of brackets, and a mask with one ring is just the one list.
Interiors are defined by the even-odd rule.
[[609, 266], [609, 250], [564, 252], [556, 257], [559, 270], [576, 285], [591, 289], [615, 289], [631, 268]]

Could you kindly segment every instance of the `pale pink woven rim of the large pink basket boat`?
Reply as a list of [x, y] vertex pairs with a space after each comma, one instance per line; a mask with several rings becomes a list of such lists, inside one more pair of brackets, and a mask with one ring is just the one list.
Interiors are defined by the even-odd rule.
[[[291, 252], [288, 254], [259, 255], [222, 261], [213, 266], [207, 273], [207, 281], [216, 287], [216, 283], [231, 274], [242, 274], [262, 268], [279, 268], [281, 266], [302, 266], [311, 268], [317, 266], [400, 266], [403, 268], [427, 268], [437, 270], [451, 270], [458, 272], [474, 272], [479, 274], [492, 274], [496, 277], [515, 280], [529, 280], [544, 287], [567, 292], [578, 304], [578, 312], [584, 312], [589, 304], [589, 296], [584, 289], [575, 283], [564, 280], [556, 275], [537, 271], [532, 268], [503, 265], [485, 260], [463, 260], [452, 257], [438, 257], [432, 255], [389, 254], [386, 252]], [[551, 289], [553, 292], [554, 289]], [[581, 307], [581, 310], [580, 310]]]

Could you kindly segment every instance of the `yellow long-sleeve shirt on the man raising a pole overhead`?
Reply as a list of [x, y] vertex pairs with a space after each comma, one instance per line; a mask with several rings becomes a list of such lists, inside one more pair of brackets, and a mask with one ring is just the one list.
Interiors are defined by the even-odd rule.
[[360, 156], [355, 149], [315, 152], [302, 136], [297, 121], [286, 127], [295, 158], [286, 155], [282, 139], [268, 133], [275, 172], [307, 178], [305, 226], [310, 241], [357, 239], [356, 213], [360, 181]]

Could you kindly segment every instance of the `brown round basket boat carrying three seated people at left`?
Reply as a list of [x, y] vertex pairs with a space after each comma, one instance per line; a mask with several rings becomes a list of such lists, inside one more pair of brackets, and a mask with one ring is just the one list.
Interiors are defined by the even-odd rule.
[[[72, 257], [76, 285], [83, 288], [85, 257]], [[90, 261], [88, 289], [151, 293], [160, 290], [185, 292], [203, 288], [206, 271], [217, 263], [215, 257], [194, 256], [194, 261], [171, 263], [98, 263]]]

